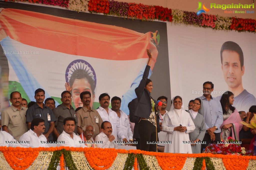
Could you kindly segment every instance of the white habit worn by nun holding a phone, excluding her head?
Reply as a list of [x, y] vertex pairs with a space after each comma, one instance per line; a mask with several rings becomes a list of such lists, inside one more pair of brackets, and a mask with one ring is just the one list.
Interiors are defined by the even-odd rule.
[[[180, 124], [187, 127], [185, 132], [174, 131], [174, 127]], [[191, 145], [183, 144], [183, 141], [189, 141], [189, 133], [193, 132], [195, 128], [193, 120], [185, 110], [173, 109], [169, 111], [164, 117], [162, 130], [167, 132], [166, 141], [172, 141], [172, 143], [165, 144], [164, 152], [192, 153]]]

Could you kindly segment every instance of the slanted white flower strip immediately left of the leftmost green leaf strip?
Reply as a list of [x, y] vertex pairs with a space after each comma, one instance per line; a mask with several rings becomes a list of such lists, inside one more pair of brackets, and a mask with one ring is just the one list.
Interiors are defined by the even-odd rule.
[[49, 163], [51, 162], [52, 155], [53, 155], [53, 152], [51, 151], [40, 151], [38, 153], [37, 158], [28, 169], [31, 169], [31, 170], [47, 169], [49, 166]]

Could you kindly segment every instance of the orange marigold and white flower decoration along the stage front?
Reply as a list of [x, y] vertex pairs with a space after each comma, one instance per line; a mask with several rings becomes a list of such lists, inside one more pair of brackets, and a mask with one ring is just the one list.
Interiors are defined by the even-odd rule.
[[[40, 151], [43, 151], [43, 152], [40, 152]], [[51, 153], [49, 153], [49, 151]], [[214, 170], [214, 169], [219, 170], [219, 169], [225, 169], [225, 168], [227, 170], [229, 170], [229, 169], [238, 169], [238, 170], [241, 169], [242, 170], [242, 169], [255, 169], [254, 165], [256, 165], [256, 156], [221, 155], [221, 154], [211, 154], [211, 153], [173, 154], [173, 153], [147, 152], [147, 151], [141, 151], [141, 150], [127, 151], [127, 150], [122, 150], [122, 149], [115, 150], [115, 149], [101, 149], [101, 148], [72, 148], [72, 147], [71, 148], [69, 148], [69, 147], [56, 147], [56, 148], [11, 148], [11, 147], [9, 147], [8, 148], [8, 147], [0, 147], [0, 154], [1, 154], [1, 152], [6, 152], [7, 155], [9, 154], [9, 156], [13, 154], [12, 152], [16, 152], [16, 153], [18, 153], [18, 152], [30, 152], [30, 153], [40, 152], [40, 155], [38, 154], [38, 156], [36, 158], [37, 164], [35, 164], [35, 166], [34, 166], [34, 163], [33, 163], [32, 166], [29, 167], [29, 169], [31, 169], [32, 167], [40, 167], [40, 163], [38, 163], [38, 161], [44, 159], [44, 157], [47, 156], [48, 154], [52, 155], [52, 159], [51, 159], [50, 163], [45, 163], [44, 160], [42, 160], [41, 161], [42, 167], [47, 168], [47, 166], [49, 166], [48, 169], [56, 169], [58, 163], [60, 162], [60, 159], [62, 159], [61, 155], [63, 154], [64, 160], [66, 162], [66, 166], [70, 170], [81, 169], [81, 168], [76, 167], [76, 164], [79, 164], [81, 162], [74, 163], [74, 160], [79, 160], [79, 159], [74, 159], [75, 155], [73, 155], [73, 157], [72, 157], [71, 151], [79, 152], [79, 153], [82, 152], [83, 153], [82, 155], [84, 155], [84, 156], [86, 156], [84, 152], [88, 152], [89, 154], [91, 153], [91, 155], [93, 155], [93, 154], [95, 155], [95, 153], [99, 153], [99, 154], [106, 153], [108, 155], [118, 154], [121, 157], [117, 158], [117, 156], [116, 157], [112, 156], [112, 158], [111, 158], [111, 156], [110, 156], [110, 159], [111, 159], [111, 161], [114, 160], [115, 167], [118, 167], [119, 169], [122, 167], [123, 167], [123, 169], [126, 169], [125, 163], [127, 162], [127, 159], [129, 157], [132, 158], [131, 159], [131, 163], [132, 163], [131, 167], [135, 166], [136, 163], [133, 161], [135, 159], [137, 159], [141, 169], [152, 169], [153, 167], [156, 167], [156, 165], [153, 166], [152, 163], [157, 164], [157, 162], [158, 162], [159, 166], [161, 166], [161, 164], [164, 164], [167, 162], [163, 158], [169, 158], [168, 162], [175, 162], [176, 164], [180, 164], [180, 162], [181, 162], [180, 160], [182, 160], [182, 159], [185, 162], [185, 160], [187, 160], [188, 158], [196, 158], [199, 161], [199, 162], [195, 161], [192, 164], [189, 164], [189, 161], [188, 161], [186, 166], [189, 165], [189, 167], [187, 167], [187, 169], [191, 169], [191, 168], [202, 169], [202, 168], [206, 167], [207, 170]], [[48, 153], [44, 153], [44, 152], [48, 152]], [[125, 153], [126, 155], [124, 155], [124, 154], [121, 155], [119, 153]], [[127, 153], [128, 153], [128, 155], [127, 155]], [[3, 155], [4, 159], [7, 159], [6, 155], [4, 155], [3, 153], [2, 153], [2, 155]], [[26, 155], [27, 155], [27, 153], [26, 153]], [[79, 155], [81, 155], [81, 154], [79, 154]], [[81, 157], [81, 156], [79, 156], [79, 157]], [[137, 158], [135, 158], [135, 157], [137, 157]], [[147, 160], [151, 160], [151, 163], [146, 162], [144, 157]], [[20, 157], [18, 157], [18, 158], [20, 158]], [[88, 160], [91, 159], [91, 157], [84, 157], [84, 160], [86, 160], [86, 158], [88, 158]], [[158, 158], [157, 161], [154, 160], [155, 158], [156, 159]], [[171, 160], [170, 158], [174, 158], [174, 160]], [[104, 159], [104, 161], [108, 161], [105, 159], [105, 155], [103, 156], [103, 159]], [[126, 162], [122, 162], [122, 165], [119, 166], [118, 164], [116, 164], [118, 159], [123, 160], [123, 161], [125, 160]], [[19, 160], [19, 159], [17, 159], [17, 160]], [[24, 161], [24, 159], [22, 159], [22, 161]], [[49, 161], [47, 161], [47, 162], [49, 162]], [[198, 168], [196, 168], [196, 164], [197, 164], [196, 162], [198, 162], [200, 164], [199, 166], [197, 166]], [[25, 164], [27, 165], [27, 162], [25, 162]], [[88, 165], [89, 164], [92, 165], [91, 163], [88, 163]], [[106, 164], [106, 163], [103, 163], [103, 164]], [[113, 163], [110, 163], [110, 167], [113, 166], [112, 164]], [[54, 166], [54, 165], [56, 165], [56, 166]], [[129, 165], [128, 162], [127, 162], [127, 165]], [[186, 169], [186, 167], [184, 167], [184, 164], [182, 164], [182, 165], [183, 165], [183, 167], [176, 166], [176, 165], [172, 166], [172, 167], [174, 167], [173, 169], [181, 169], [181, 168]], [[63, 165], [61, 165], [61, 166], [63, 166]], [[96, 165], [94, 165], [94, 166], [96, 166]], [[98, 165], [98, 166], [100, 166], [100, 165]], [[105, 165], [102, 165], [102, 166], [105, 166]], [[191, 167], [191, 166], [193, 166], [193, 167]], [[88, 167], [88, 166], [84, 166], [83, 169], [87, 169], [86, 167]], [[161, 166], [161, 168], [163, 170], [169, 169], [169, 167], [170, 167], [169, 165], [166, 167]], [[18, 169], [17, 167], [15, 167], [15, 168]], [[106, 166], [105, 167], [94, 167], [93, 169], [105, 169], [105, 168], [107, 168], [107, 167]], [[111, 168], [113, 168], [113, 167], [111, 167]], [[6, 169], [6, 168], [3, 167], [2, 164], [0, 164], [0, 169]], [[25, 168], [19, 167], [19, 169], [25, 169]]]

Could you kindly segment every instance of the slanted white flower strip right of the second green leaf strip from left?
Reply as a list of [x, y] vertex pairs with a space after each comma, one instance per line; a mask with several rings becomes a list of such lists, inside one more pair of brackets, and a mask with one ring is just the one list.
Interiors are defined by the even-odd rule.
[[89, 162], [87, 161], [87, 159], [86, 159], [86, 157], [84, 155], [84, 152], [74, 152], [74, 151], [71, 151], [71, 155], [72, 155], [74, 163], [77, 166], [77, 169], [81, 169], [81, 170], [93, 169], [90, 166]]

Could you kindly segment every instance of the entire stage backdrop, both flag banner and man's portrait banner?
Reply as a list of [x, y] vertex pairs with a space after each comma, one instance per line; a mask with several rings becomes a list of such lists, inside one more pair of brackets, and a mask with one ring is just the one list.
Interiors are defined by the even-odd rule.
[[[9, 106], [9, 94], [19, 91], [28, 101], [42, 88], [46, 98], [60, 103], [64, 84], [72, 86], [73, 106], [82, 105], [79, 94], [92, 92], [92, 105], [99, 106], [101, 93], [122, 98], [121, 109], [135, 98], [134, 89], [147, 63], [146, 49], [153, 54], [153, 98], [165, 95], [188, 102], [202, 96], [205, 81], [214, 83], [213, 97], [230, 90], [234, 106], [248, 111], [256, 105], [256, 34], [214, 31], [210, 28], [143, 22], [52, 7], [0, 2], [0, 103]], [[243, 52], [229, 51], [221, 63], [226, 41]], [[245, 89], [245, 90], [244, 90]]]

